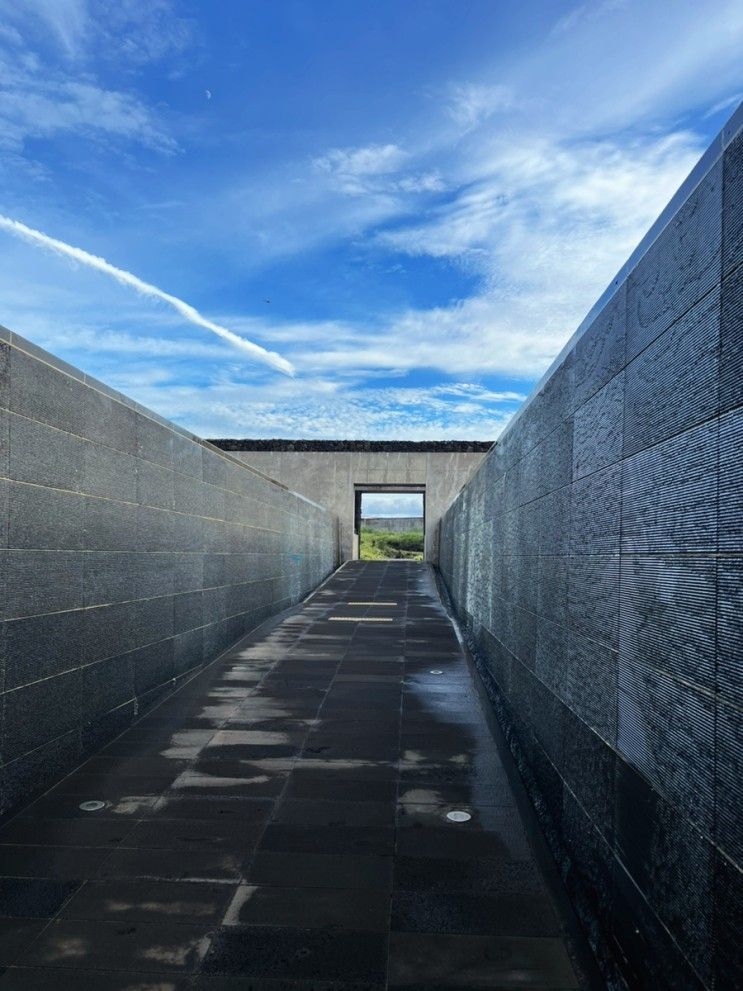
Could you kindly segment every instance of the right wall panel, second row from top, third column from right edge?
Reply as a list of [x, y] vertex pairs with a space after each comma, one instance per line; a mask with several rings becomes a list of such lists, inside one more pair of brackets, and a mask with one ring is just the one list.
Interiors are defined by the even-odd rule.
[[590, 475], [622, 457], [624, 376], [617, 375], [576, 410], [573, 478]]

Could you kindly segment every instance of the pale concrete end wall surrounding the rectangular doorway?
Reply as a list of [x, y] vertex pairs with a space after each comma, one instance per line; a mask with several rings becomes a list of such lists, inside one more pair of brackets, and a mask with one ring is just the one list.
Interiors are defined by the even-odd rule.
[[[240, 441], [216, 441], [235, 448]], [[390, 444], [389, 447], [393, 445]], [[301, 492], [338, 517], [341, 560], [353, 554], [355, 485], [425, 485], [426, 558], [438, 558], [438, 524], [474, 468], [477, 450], [234, 450], [236, 457]]]

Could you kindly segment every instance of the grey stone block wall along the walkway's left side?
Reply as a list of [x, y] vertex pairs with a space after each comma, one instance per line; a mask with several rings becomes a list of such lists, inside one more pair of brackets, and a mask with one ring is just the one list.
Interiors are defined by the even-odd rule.
[[0, 812], [334, 564], [329, 514], [0, 328]]

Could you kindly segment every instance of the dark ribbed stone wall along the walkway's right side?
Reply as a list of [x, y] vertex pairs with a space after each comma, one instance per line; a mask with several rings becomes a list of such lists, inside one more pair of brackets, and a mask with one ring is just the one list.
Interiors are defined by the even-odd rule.
[[742, 117], [442, 524], [565, 881], [632, 988], [743, 986]]

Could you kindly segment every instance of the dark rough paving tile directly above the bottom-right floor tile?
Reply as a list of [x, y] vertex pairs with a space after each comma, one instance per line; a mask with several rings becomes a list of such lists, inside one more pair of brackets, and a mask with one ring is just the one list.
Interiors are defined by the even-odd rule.
[[558, 936], [560, 924], [547, 895], [534, 892], [396, 891], [391, 928], [399, 932], [494, 936]]

